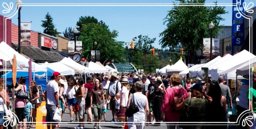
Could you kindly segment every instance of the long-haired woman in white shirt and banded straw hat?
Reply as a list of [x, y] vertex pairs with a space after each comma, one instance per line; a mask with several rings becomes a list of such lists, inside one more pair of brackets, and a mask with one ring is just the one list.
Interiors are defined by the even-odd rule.
[[[128, 98], [129, 98], [130, 84], [127, 78], [123, 78], [121, 81], [121, 84], [122, 84], [121, 86], [122, 89], [120, 93], [121, 107], [126, 108], [126, 105], [128, 103]], [[125, 119], [127, 120], [127, 117]], [[124, 128], [124, 125], [125, 123], [122, 125], [122, 128]]]

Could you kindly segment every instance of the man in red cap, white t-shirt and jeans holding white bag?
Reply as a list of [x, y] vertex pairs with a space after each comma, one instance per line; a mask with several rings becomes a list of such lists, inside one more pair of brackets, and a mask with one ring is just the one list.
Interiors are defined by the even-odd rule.
[[[46, 122], [55, 122], [53, 119], [55, 110], [60, 108], [59, 104], [59, 86], [57, 81], [60, 80], [60, 73], [59, 72], [53, 72], [52, 80], [46, 85], [45, 90], [45, 98], [46, 98]], [[50, 129], [52, 125], [52, 129], [55, 129], [56, 124], [50, 123], [47, 124], [47, 129]]]

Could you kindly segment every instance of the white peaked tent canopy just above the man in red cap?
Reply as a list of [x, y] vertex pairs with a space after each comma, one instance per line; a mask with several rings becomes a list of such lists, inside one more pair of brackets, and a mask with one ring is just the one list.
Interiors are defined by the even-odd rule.
[[47, 65], [47, 67], [49, 67], [50, 69], [57, 71], [60, 73], [60, 75], [74, 75], [75, 74], [75, 70], [71, 69], [70, 67], [64, 65], [61, 62], [55, 62], [55, 63], [40, 63], [42, 65]]

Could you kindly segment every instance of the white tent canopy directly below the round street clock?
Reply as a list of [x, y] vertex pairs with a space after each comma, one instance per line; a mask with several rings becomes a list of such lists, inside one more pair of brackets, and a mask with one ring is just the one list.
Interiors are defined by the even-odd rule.
[[81, 74], [83, 72], [89, 72], [89, 68], [78, 64], [77, 62], [75, 62], [73, 59], [71, 59], [69, 57], [63, 58], [60, 62], [67, 65], [71, 69], [75, 70], [76, 73]]

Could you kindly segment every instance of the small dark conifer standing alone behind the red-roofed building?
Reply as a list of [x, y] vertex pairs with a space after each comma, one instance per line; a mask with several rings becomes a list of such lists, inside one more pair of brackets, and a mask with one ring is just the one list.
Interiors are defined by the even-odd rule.
[[49, 14], [49, 12], [47, 12], [47, 14], [44, 17], [46, 20], [42, 20], [42, 27], [44, 28], [44, 33], [48, 34], [50, 36], [56, 36], [57, 34], [60, 34], [57, 29], [55, 29], [55, 25], [53, 24], [53, 18], [52, 16]]

